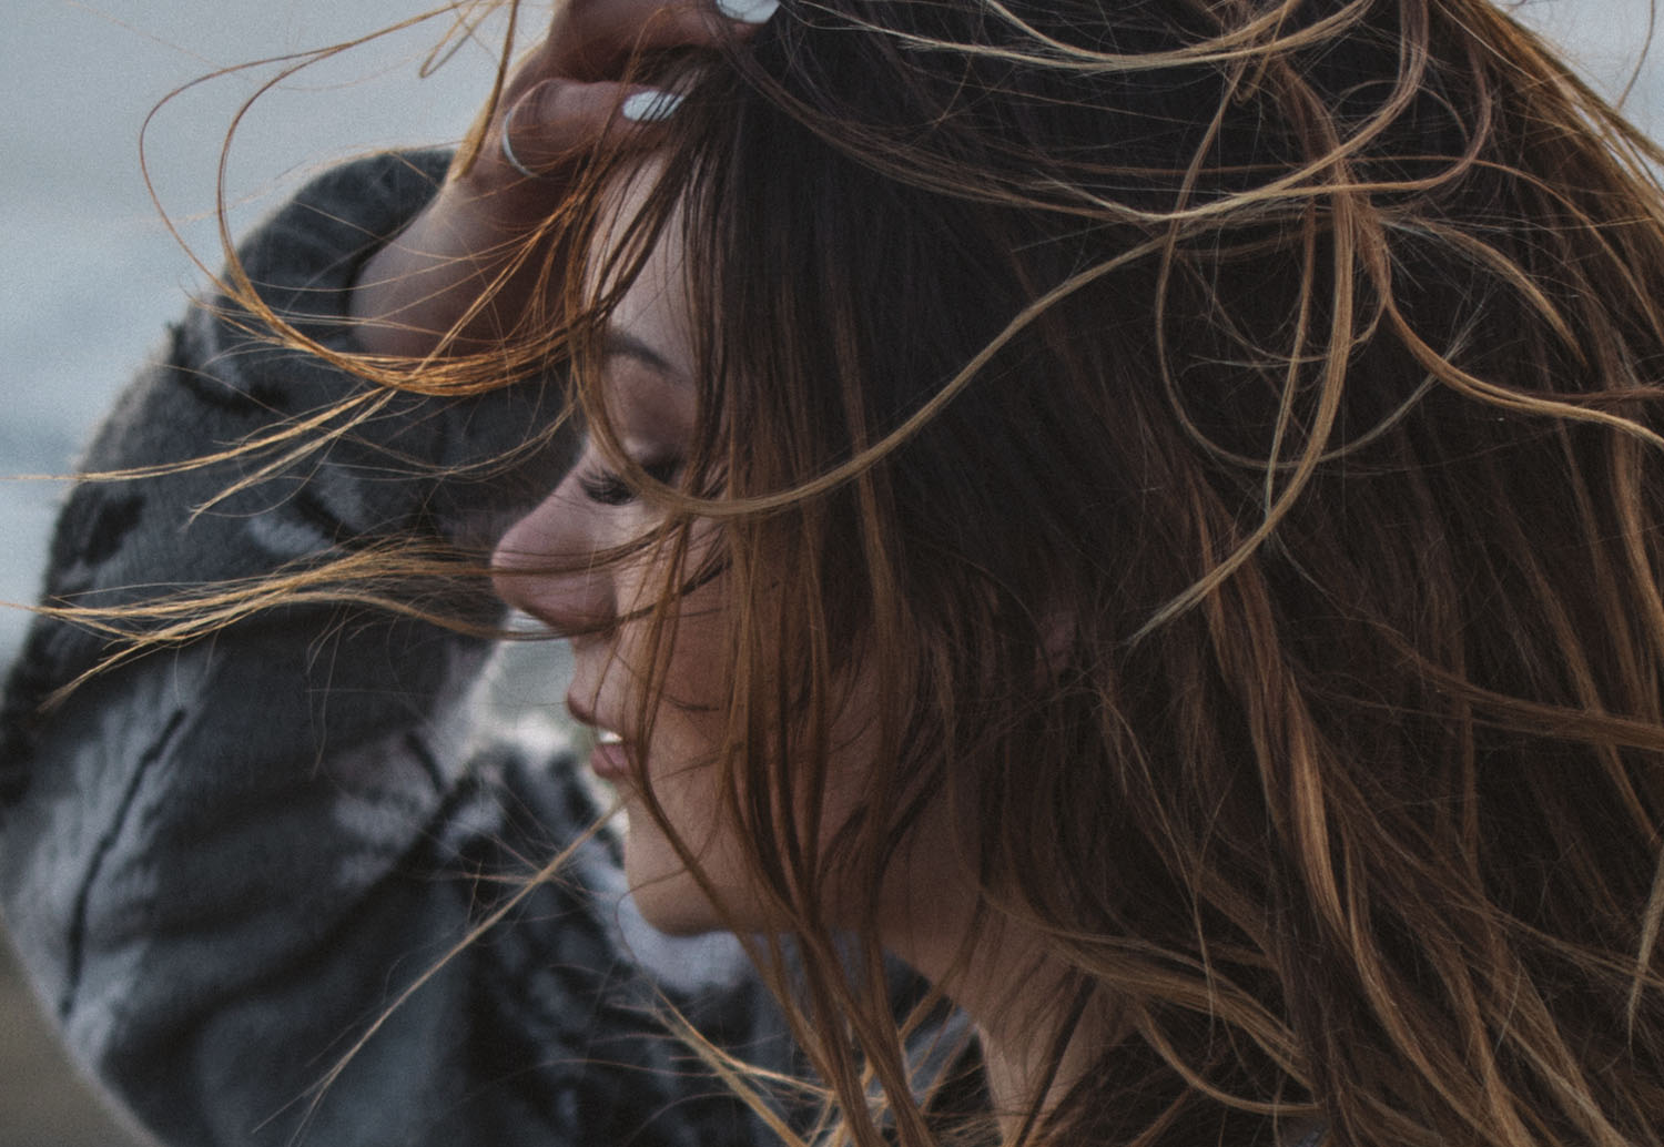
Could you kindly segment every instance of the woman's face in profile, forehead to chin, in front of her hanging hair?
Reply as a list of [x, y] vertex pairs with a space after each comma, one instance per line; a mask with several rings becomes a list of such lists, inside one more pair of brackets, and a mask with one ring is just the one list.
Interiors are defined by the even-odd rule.
[[[624, 196], [621, 218], [636, 203]], [[624, 451], [649, 473], [674, 483], [694, 430], [694, 348], [676, 226], [649, 255], [622, 295], [602, 341], [601, 393]], [[730, 911], [747, 902], [717, 807], [716, 754], [726, 724], [724, 671], [727, 603], [717, 578], [681, 596], [651, 674], [652, 623], [641, 613], [667, 593], [667, 559], [654, 546], [622, 563], [592, 563], [662, 523], [664, 511], [632, 494], [592, 439], [571, 473], [498, 543], [493, 566], [504, 601], [572, 636], [574, 676], [567, 709], [594, 729], [596, 772], [617, 787], [629, 814], [626, 872], [642, 914], [667, 932], [721, 926], [704, 892], [687, 876], [641, 801], [652, 786], [666, 817], [699, 861]], [[694, 526], [687, 569], [711, 529]], [[572, 573], [551, 573], [569, 569]], [[529, 571], [529, 573], [527, 573]], [[657, 696], [644, 698], [649, 676]], [[634, 737], [641, 714], [652, 714], [651, 739]]]

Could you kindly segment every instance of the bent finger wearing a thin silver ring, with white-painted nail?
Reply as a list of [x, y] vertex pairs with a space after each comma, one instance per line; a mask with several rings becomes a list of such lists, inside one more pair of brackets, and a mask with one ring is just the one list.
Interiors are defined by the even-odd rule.
[[503, 163], [547, 178], [596, 146], [651, 148], [681, 95], [614, 82], [544, 80], [504, 115]]

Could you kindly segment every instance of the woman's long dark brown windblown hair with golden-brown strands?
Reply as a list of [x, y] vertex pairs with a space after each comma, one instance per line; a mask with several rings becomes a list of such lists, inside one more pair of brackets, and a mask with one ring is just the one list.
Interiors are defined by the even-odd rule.
[[1038, 1140], [1664, 1142], [1656, 158], [1488, 0], [797, 0], [696, 73], [709, 501], [632, 473], [721, 523], [850, 1140], [937, 1130], [825, 889], [948, 802], [1118, 1017]]

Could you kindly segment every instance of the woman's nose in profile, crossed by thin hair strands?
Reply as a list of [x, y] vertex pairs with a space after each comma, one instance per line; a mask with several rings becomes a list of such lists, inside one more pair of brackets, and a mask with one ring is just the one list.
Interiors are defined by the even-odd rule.
[[557, 634], [577, 638], [611, 626], [617, 603], [609, 571], [594, 559], [597, 523], [571, 481], [503, 534], [491, 553], [491, 586]]

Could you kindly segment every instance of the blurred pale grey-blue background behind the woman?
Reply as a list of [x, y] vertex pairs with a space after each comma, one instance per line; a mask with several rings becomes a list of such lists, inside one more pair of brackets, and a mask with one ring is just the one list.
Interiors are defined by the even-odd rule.
[[[428, 0], [438, 5], [439, 0]], [[1664, 130], [1664, 67], [1636, 72], [1649, 0], [1508, 5], [1559, 42], [1609, 97]], [[98, 413], [205, 285], [186, 248], [220, 265], [215, 181], [241, 103], [275, 67], [216, 70], [344, 43], [419, 17], [423, 0], [23, 0], [0, 37], [0, 601], [35, 596], [62, 474]], [[547, 7], [522, 22], [537, 28]], [[253, 107], [226, 156], [231, 226], [246, 231], [285, 190], [334, 160], [386, 146], [454, 142], [489, 90], [501, 27], [454, 40], [454, 18], [308, 67]], [[1664, 55], [1664, 48], [1654, 57]], [[428, 70], [429, 75], [421, 73]], [[140, 170], [145, 161], [163, 225]], [[181, 246], [181, 240], [185, 246]], [[25, 624], [0, 608], [7, 663]], [[136, 1144], [77, 1080], [0, 941], [0, 1147]]]

